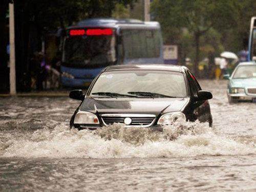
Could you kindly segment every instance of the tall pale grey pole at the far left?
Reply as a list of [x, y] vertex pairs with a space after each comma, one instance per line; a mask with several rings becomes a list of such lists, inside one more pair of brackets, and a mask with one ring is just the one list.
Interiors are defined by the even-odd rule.
[[10, 95], [16, 95], [14, 3], [9, 4]]

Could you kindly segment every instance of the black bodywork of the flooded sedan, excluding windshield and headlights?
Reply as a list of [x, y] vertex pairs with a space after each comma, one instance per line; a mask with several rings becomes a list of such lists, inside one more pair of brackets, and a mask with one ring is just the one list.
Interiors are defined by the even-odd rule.
[[[184, 98], [171, 97], [90, 97], [97, 78], [105, 72], [116, 71], [167, 71], [177, 72], [184, 76], [187, 96]], [[161, 85], [159, 85], [161, 86]], [[113, 123], [124, 123], [125, 126], [159, 128], [159, 119], [164, 114], [182, 113], [187, 121], [208, 122], [212, 125], [212, 116], [207, 99], [212, 98], [210, 92], [202, 91], [193, 74], [186, 68], [171, 65], [121, 65], [105, 68], [92, 82], [86, 95], [81, 90], [74, 90], [70, 97], [82, 100], [71, 118], [70, 126], [77, 129], [98, 129]], [[97, 124], [76, 123], [78, 113], [89, 112], [98, 118]], [[131, 122], [126, 123], [126, 120]]]

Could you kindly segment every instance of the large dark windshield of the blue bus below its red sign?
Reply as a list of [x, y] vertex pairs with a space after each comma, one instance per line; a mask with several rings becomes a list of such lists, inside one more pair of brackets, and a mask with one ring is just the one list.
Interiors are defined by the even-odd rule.
[[104, 67], [116, 62], [114, 35], [70, 36], [66, 38], [63, 65], [67, 67]]

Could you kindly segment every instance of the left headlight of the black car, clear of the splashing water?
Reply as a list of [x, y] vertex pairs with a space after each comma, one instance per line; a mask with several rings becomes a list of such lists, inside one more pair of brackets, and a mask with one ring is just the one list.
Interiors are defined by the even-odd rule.
[[74, 124], [99, 124], [99, 119], [93, 113], [79, 111], [75, 116]]

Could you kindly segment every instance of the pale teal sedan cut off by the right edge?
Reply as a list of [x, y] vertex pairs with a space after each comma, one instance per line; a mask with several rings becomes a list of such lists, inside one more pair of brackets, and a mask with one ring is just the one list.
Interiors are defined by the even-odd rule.
[[228, 79], [228, 102], [252, 101], [256, 102], [256, 63], [241, 62], [234, 69], [231, 76], [224, 75]]

